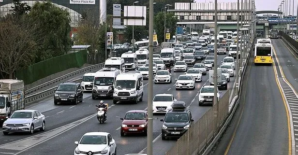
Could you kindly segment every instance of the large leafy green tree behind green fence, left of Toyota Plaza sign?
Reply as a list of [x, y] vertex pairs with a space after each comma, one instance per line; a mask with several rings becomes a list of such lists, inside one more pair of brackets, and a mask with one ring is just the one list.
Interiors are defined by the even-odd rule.
[[33, 21], [37, 21], [38, 27], [43, 30], [42, 35], [45, 36], [35, 62], [66, 54], [72, 46], [68, 11], [51, 2], [36, 2], [29, 16]]

